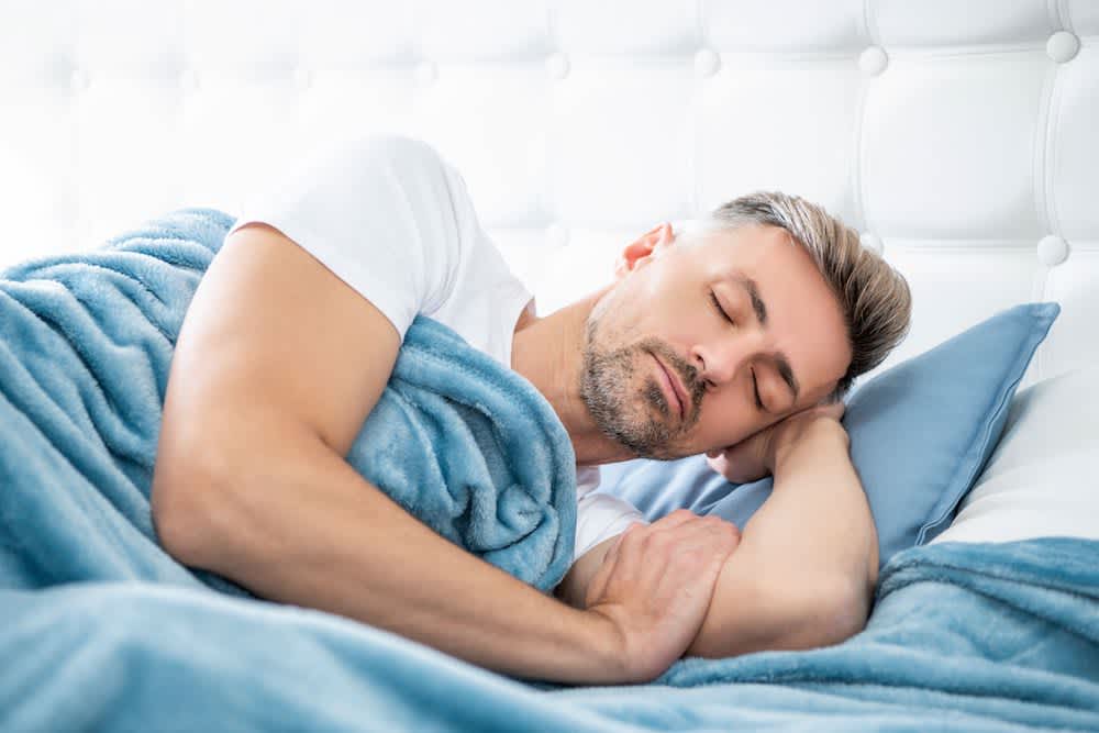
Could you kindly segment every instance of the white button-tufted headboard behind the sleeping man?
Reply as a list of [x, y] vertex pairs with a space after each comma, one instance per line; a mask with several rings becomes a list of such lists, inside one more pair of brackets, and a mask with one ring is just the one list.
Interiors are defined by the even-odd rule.
[[1028, 300], [1024, 384], [1099, 362], [1099, 2], [7, 0], [0, 265], [401, 132], [547, 312], [737, 195], [823, 203], [908, 277], [880, 368]]

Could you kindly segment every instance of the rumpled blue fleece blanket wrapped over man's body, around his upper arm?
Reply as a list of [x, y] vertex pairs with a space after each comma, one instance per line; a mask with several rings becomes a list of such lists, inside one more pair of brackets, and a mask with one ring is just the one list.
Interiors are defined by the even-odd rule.
[[[187, 307], [233, 219], [185, 209], [0, 273], [0, 588], [201, 581], [149, 489]], [[550, 591], [576, 525], [573, 445], [541, 393], [431, 319], [406, 334], [348, 462], [437, 533]]]

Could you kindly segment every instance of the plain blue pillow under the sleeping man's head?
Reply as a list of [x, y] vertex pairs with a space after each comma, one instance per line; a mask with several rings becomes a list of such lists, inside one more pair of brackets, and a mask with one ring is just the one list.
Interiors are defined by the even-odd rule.
[[[945, 530], [991, 455], [1034, 349], [1061, 313], [1025, 303], [854, 389], [843, 425], [878, 531], [880, 565]], [[650, 521], [687, 508], [740, 527], [770, 496], [768, 476], [730, 484], [704, 455], [603, 466], [599, 491], [633, 503]], [[735, 490], [734, 490], [735, 489]]]

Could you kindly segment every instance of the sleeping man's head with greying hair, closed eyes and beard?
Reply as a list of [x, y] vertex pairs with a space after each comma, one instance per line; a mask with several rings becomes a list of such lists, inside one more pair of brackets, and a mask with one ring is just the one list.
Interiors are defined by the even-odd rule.
[[754, 193], [699, 224], [630, 244], [588, 318], [580, 395], [640, 456], [725, 447], [841, 399], [908, 332], [904, 278], [822, 208]]

